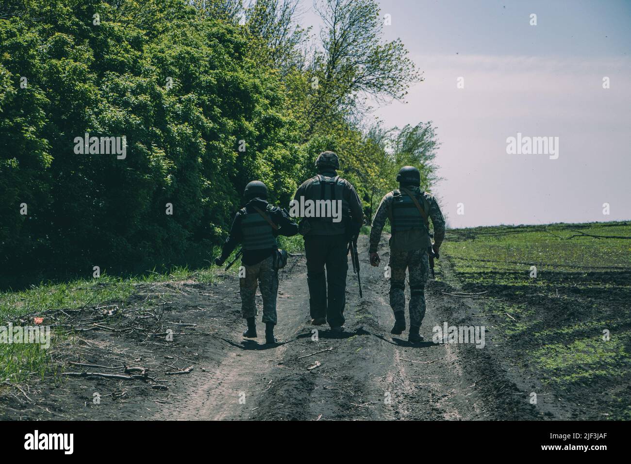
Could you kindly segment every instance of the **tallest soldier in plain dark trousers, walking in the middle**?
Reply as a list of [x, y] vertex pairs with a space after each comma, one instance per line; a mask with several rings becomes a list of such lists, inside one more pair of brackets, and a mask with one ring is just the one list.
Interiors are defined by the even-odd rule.
[[[363, 208], [355, 187], [339, 177], [336, 171], [339, 169], [338, 155], [320, 153], [315, 167], [318, 174], [303, 182], [294, 197], [294, 203], [312, 201], [315, 205], [326, 205], [322, 200], [329, 200], [331, 205], [328, 215], [314, 217], [307, 210], [300, 215], [303, 218], [299, 229], [305, 239], [311, 323], [322, 325], [328, 322], [333, 333], [341, 333], [345, 322], [348, 242], [357, 240], [363, 223]], [[341, 210], [335, 205], [341, 206]], [[334, 212], [338, 213], [337, 217], [333, 217]]]

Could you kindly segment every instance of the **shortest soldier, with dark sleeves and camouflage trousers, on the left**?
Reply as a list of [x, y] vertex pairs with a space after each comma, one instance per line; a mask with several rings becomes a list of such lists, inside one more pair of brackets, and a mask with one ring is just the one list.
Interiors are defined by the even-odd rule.
[[223, 244], [221, 256], [215, 259], [217, 266], [223, 265], [230, 253], [240, 242], [245, 266], [245, 277], [240, 278], [241, 312], [247, 321], [243, 336], [256, 338], [256, 287], [261, 289], [265, 342], [276, 343], [276, 297], [278, 295], [278, 267], [276, 253], [277, 235], [291, 237], [298, 233], [298, 226], [289, 214], [267, 201], [268, 189], [263, 182], [252, 181], [245, 186], [245, 208], [237, 211], [232, 222], [230, 235]]

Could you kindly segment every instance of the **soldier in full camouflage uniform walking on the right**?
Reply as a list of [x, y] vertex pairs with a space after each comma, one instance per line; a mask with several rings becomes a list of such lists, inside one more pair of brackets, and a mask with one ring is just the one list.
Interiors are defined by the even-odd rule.
[[386, 218], [390, 219], [390, 306], [394, 311], [394, 327], [390, 333], [405, 330], [405, 270], [410, 272], [410, 333], [412, 343], [423, 341], [419, 335], [425, 316], [425, 282], [429, 277], [428, 248], [432, 247], [428, 218], [434, 229], [433, 252], [438, 254], [445, 237], [445, 220], [433, 196], [420, 189], [421, 174], [413, 166], [404, 166], [396, 177], [399, 189], [381, 200], [370, 230], [370, 264], [379, 266], [377, 246]]

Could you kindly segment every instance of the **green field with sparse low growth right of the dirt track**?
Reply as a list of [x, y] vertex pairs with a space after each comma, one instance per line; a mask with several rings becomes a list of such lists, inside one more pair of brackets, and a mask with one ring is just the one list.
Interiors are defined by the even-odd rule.
[[560, 392], [597, 384], [620, 403], [608, 418], [628, 419], [618, 390], [631, 380], [631, 240], [575, 231], [631, 237], [631, 224], [456, 229], [442, 250], [466, 291], [487, 290], [481, 311], [500, 313], [493, 338], [522, 367]]

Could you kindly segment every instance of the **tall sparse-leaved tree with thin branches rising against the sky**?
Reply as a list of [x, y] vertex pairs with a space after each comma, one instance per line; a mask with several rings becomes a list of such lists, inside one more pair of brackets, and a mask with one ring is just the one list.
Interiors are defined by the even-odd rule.
[[375, 0], [316, 0], [324, 28], [322, 50], [308, 74], [317, 82], [307, 109], [305, 136], [332, 119], [367, 110], [378, 102], [402, 99], [410, 83], [420, 80], [401, 40], [382, 42], [382, 22]]

